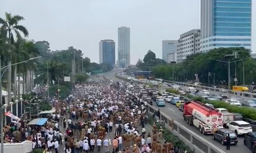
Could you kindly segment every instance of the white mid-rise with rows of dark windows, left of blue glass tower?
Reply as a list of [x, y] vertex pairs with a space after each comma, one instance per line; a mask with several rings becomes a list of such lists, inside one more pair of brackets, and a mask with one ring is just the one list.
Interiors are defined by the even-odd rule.
[[180, 35], [177, 45], [177, 63], [188, 55], [200, 53], [200, 29], [193, 29]]

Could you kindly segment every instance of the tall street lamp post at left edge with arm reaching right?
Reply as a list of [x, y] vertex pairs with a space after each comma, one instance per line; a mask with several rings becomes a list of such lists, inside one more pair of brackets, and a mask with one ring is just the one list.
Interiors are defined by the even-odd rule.
[[[4, 133], [3, 133], [3, 130], [4, 130], [4, 125], [3, 125], [3, 120], [4, 120], [4, 115], [3, 115], [3, 107], [5, 107], [5, 110], [6, 110], [6, 107], [7, 107], [7, 104], [4, 104], [3, 105], [3, 96], [2, 96], [2, 69], [6, 68], [6, 67], [9, 67], [9, 66], [12, 66], [12, 65], [17, 65], [17, 64], [20, 64], [20, 63], [25, 63], [25, 62], [28, 62], [28, 61], [31, 61], [31, 60], [35, 60], [35, 59], [38, 59], [38, 58], [41, 58], [41, 56], [39, 57], [35, 57], [35, 58], [30, 58], [29, 60], [26, 60], [26, 61], [23, 61], [23, 62], [18, 62], [18, 63], [14, 63], [14, 64], [11, 64], [11, 65], [7, 65], [7, 66], [4, 66], [4, 67], [1, 67], [1, 56], [0, 56], [0, 106], [1, 106], [1, 109], [0, 109], [0, 115], [1, 115], [1, 118], [0, 118], [0, 125], [1, 125], [1, 152], [4, 152]], [[6, 120], [5, 120], [6, 122]], [[6, 123], [5, 123], [6, 124]]]

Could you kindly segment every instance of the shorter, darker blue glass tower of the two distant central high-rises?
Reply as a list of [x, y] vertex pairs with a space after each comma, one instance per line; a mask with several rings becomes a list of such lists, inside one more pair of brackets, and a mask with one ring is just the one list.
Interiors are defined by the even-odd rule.
[[115, 66], [115, 42], [114, 40], [100, 40], [99, 42], [99, 63]]

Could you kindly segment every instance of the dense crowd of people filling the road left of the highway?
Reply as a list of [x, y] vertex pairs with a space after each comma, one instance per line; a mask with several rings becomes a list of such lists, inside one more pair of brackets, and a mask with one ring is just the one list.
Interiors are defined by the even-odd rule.
[[[128, 85], [93, 82], [75, 85], [68, 101], [58, 101], [56, 112], [42, 126], [30, 126], [33, 149], [46, 152], [185, 152], [164, 142], [156, 124], [147, 120], [147, 106]], [[131, 89], [129, 89], [131, 90]], [[152, 129], [153, 128], [153, 129]]]

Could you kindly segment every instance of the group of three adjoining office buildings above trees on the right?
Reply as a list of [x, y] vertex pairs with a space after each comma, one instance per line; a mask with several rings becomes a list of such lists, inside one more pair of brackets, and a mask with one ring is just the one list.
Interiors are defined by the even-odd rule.
[[162, 59], [182, 62], [187, 56], [219, 47], [251, 49], [251, 0], [201, 0], [201, 29], [162, 41]]

